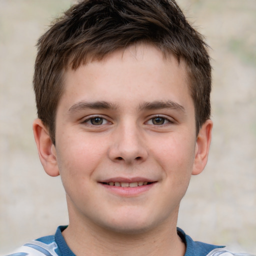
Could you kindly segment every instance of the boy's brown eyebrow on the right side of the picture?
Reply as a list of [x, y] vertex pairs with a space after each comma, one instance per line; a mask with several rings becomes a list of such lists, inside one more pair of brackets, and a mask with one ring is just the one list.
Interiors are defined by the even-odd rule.
[[152, 101], [152, 102], [143, 102], [142, 104], [140, 104], [138, 106], [139, 110], [143, 110], [143, 109], [161, 109], [161, 108], [170, 108], [170, 109], [175, 109], [178, 111], [181, 111], [183, 113], [186, 113], [185, 108], [178, 104], [177, 102], [174, 102], [172, 100], [156, 100], [156, 101]]

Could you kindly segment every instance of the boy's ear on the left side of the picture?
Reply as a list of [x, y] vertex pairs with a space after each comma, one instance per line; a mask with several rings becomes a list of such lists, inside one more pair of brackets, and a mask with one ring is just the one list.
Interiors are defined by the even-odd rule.
[[39, 158], [45, 172], [50, 176], [59, 175], [56, 149], [50, 139], [48, 129], [41, 119], [35, 119], [33, 121], [33, 133]]

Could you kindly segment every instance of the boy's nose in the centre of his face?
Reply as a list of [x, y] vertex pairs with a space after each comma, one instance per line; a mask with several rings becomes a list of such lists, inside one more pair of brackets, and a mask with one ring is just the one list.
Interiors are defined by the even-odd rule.
[[147, 158], [145, 139], [136, 124], [118, 125], [112, 134], [108, 157], [115, 162], [140, 163]]

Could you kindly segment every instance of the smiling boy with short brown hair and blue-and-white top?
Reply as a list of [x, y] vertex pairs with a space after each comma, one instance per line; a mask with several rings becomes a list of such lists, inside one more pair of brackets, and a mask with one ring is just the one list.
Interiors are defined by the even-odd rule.
[[242, 255], [176, 227], [212, 121], [206, 45], [174, 1], [80, 1], [40, 37], [33, 84], [69, 225], [12, 255]]

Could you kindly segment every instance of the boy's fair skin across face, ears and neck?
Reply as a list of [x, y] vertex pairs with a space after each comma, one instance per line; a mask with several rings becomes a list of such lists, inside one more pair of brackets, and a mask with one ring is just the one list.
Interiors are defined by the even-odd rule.
[[63, 236], [76, 255], [184, 255], [178, 207], [207, 162], [212, 128], [207, 120], [196, 135], [184, 66], [151, 45], [114, 51], [66, 72], [55, 146], [34, 121], [41, 163], [66, 191]]

